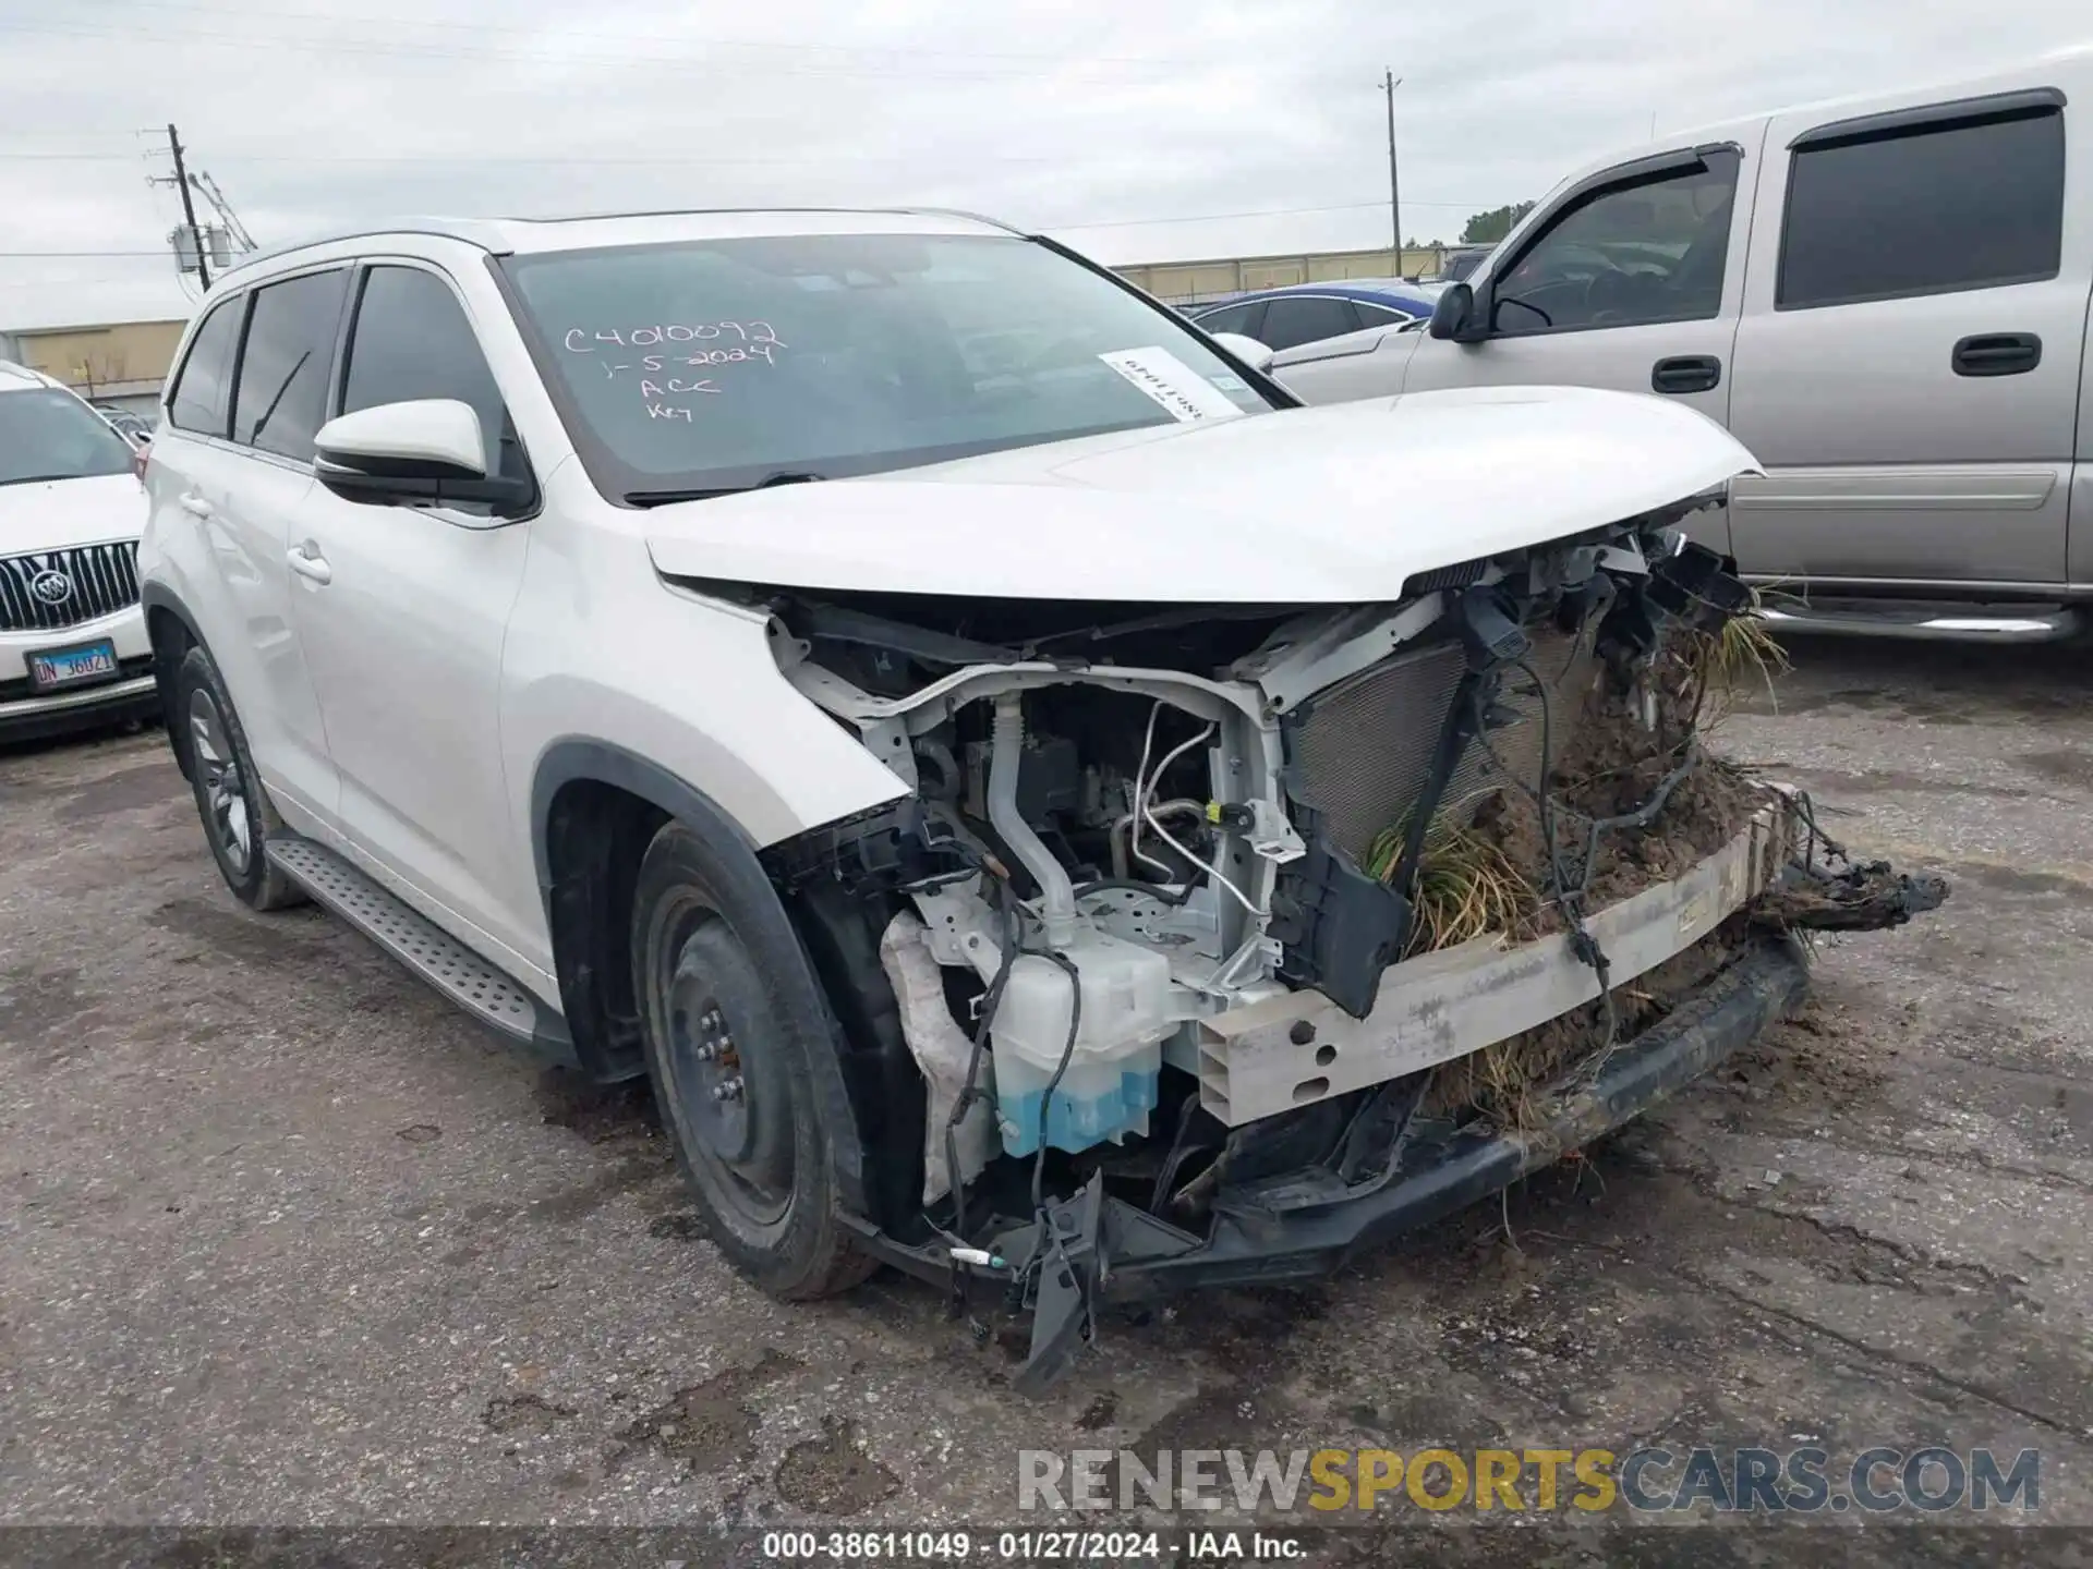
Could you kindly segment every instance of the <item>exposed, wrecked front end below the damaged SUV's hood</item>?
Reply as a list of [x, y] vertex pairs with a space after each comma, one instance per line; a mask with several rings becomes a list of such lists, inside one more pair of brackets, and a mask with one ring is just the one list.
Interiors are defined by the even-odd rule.
[[1285, 1274], [1231, 1228], [1386, 1201], [1434, 1140], [1536, 1153], [1670, 1002], [1938, 904], [1840, 881], [1806, 797], [1704, 753], [1750, 626], [1679, 533], [1706, 500], [1390, 605], [764, 594], [785, 676], [908, 791], [766, 851], [875, 912], [890, 1257], [998, 1278], [1042, 1383], [1128, 1261]]

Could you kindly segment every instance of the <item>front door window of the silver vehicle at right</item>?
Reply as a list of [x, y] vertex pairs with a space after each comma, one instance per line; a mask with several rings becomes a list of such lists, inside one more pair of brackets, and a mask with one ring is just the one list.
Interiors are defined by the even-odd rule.
[[1737, 155], [1574, 197], [1490, 282], [1499, 337], [1649, 322], [1723, 310]]

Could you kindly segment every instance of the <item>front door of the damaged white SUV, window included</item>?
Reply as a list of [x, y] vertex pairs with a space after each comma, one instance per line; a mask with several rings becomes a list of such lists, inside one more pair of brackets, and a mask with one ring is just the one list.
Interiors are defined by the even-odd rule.
[[[423, 397], [469, 404], [488, 471], [517, 471], [465, 305], [410, 264], [362, 272], [341, 412]], [[488, 508], [350, 502], [316, 483], [291, 531], [293, 609], [341, 774], [341, 826], [368, 870], [525, 975], [536, 893], [509, 833], [500, 672], [527, 525]], [[542, 925], [542, 920], [540, 920]]]

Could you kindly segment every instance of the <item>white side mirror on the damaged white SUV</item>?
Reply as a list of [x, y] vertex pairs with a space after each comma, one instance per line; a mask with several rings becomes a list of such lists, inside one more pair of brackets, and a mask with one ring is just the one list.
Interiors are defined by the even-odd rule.
[[527, 479], [488, 475], [479, 414], [454, 397], [419, 397], [341, 414], [312, 439], [312, 473], [352, 502], [523, 504]]

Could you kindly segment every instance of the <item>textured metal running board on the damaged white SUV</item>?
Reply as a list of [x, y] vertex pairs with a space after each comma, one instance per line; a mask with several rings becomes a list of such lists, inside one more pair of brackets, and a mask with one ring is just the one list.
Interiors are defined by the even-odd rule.
[[264, 849], [314, 904], [347, 920], [494, 1033], [534, 1052], [573, 1054], [565, 1019], [335, 851], [299, 835], [274, 835]]

